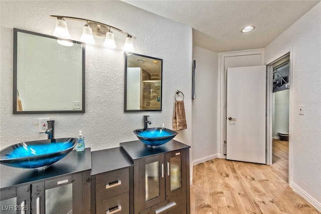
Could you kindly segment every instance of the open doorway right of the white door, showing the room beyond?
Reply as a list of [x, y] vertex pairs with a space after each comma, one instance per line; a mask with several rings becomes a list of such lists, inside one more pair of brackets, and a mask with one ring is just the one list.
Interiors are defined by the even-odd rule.
[[[269, 164], [276, 170], [276, 174], [289, 181], [289, 116], [290, 116], [290, 53], [275, 60], [268, 66], [272, 74], [272, 87], [268, 89], [271, 103], [267, 108], [270, 115], [271, 160]], [[267, 98], [269, 97], [267, 96]], [[268, 118], [267, 118], [268, 119]], [[268, 123], [267, 123], [268, 124]], [[269, 144], [269, 143], [267, 143]]]

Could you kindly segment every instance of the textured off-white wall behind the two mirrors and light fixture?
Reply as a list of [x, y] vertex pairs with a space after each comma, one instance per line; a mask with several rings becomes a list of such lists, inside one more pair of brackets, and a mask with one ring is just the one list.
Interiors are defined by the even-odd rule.
[[[136, 140], [133, 130], [143, 127], [150, 115], [151, 127], [172, 128], [176, 89], [185, 94], [188, 129], [175, 139], [192, 144], [192, 29], [120, 1], [1, 1], [1, 106], [0, 148], [28, 140], [46, 139], [38, 133], [38, 118], [56, 120], [56, 137], [76, 137], [79, 130], [92, 150]], [[81, 4], [80, 4], [81, 3]], [[102, 46], [104, 39], [86, 47], [86, 113], [12, 114], [13, 28], [52, 35], [55, 19], [49, 15], [79, 17], [106, 23], [135, 37], [135, 53], [163, 59], [163, 111], [124, 113], [125, 37], [116, 35], [117, 48]], [[68, 21], [73, 39], [79, 40], [85, 23]], [[192, 159], [192, 158], [191, 158]]]

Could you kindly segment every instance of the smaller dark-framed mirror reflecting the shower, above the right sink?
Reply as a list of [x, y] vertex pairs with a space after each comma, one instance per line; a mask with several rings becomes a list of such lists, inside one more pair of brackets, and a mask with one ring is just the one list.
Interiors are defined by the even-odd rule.
[[162, 111], [163, 60], [125, 54], [124, 111]]

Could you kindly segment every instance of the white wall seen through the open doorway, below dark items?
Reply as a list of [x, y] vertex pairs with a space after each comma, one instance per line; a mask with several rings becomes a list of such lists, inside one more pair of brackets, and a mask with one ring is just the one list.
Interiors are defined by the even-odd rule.
[[289, 132], [289, 90], [273, 93], [272, 100], [272, 136], [279, 137], [279, 132]]

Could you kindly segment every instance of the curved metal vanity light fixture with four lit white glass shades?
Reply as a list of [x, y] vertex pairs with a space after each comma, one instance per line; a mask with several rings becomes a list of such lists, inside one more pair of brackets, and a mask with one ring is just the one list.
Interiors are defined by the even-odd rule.
[[56, 18], [56, 28], [54, 31], [54, 36], [61, 38], [61, 39], [71, 39], [71, 36], [69, 34], [67, 24], [65, 20], [76, 20], [76, 21], [82, 21], [86, 22], [85, 26], [83, 27], [83, 33], [80, 38], [80, 41], [86, 43], [86, 44], [95, 44], [95, 40], [93, 37], [93, 34], [100, 37], [106, 37], [104, 46], [107, 48], [116, 48], [115, 40], [114, 40], [114, 34], [113, 31], [118, 31], [124, 35], [126, 35], [125, 45], [123, 50], [127, 52], [134, 52], [133, 47], [133, 39], [136, 39], [136, 37], [118, 29], [115, 27], [112, 27], [110, 25], [106, 25], [100, 22], [86, 20], [82, 18], [76, 18], [76, 17], [64, 17], [64, 16], [54, 16], [51, 15], [50, 17]]

